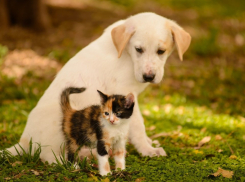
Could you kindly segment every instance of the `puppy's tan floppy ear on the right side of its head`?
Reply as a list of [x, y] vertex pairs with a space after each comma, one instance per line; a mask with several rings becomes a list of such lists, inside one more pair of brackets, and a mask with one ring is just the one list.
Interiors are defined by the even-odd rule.
[[183, 61], [183, 54], [190, 46], [191, 36], [184, 29], [174, 22], [171, 22], [171, 32], [173, 35], [174, 43], [177, 48], [179, 58]]

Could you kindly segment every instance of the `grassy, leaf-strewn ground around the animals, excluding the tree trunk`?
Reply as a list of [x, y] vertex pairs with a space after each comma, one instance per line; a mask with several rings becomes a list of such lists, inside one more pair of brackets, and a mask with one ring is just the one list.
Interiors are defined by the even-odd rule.
[[48, 32], [0, 32], [0, 149], [18, 142], [28, 113], [69, 58], [111, 23], [152, 11], [192, 36], [184, 61], [174, 52], [161, 84], [139, 98], [147, 134], [168, 156], [142, 157], [129, 144], [126, 171], [102, 178], [94, 160], [75, 170], [42, 163], [37, 151], [0, 157], [0, 181], [245, 181], [245, 3], [122, 2], [49, 0]]

